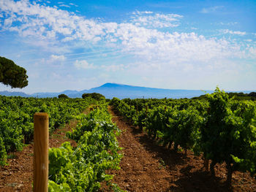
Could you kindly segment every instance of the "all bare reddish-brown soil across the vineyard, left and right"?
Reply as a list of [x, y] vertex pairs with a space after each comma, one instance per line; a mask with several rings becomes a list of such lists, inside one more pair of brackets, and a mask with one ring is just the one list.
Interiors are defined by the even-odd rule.
[[[256, 181], [248, 173], [233, 174], [232, 189], [225, 187], [225, 165], [216, 167], [216, 177], [205, 172], [201, 157], [188, 151], [176, 153], [157, 145], [139, 128], [126, 123], [110, 110], [113, 122], [122, 133], [118, 137], [121, 153], [121, 169], [110, 171], [115, 174], [113, 183], [126, 191], [256, 191]], [[56, 130], [50, 137], [50, 147], [59, 147], [67, 139], [65, 133], [75, 126], [72, 121], [64, 128]], [[8, 166], [0, 167], [0, 191], [31, 191], [33, 181], [33, 144], [23, 151], [13, 153]], [[108, 191], [103, 187], [102, 191]]]

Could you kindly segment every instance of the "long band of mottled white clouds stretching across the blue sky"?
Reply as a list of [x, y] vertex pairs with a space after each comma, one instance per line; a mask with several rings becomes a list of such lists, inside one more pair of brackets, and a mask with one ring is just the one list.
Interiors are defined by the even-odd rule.
[[[211, 7], [209, 10], [219, 8]], [[137, 11], [129, 23], [107, 23], [29, 1], [0, 1], [0, 10], [7, 15], [2, 27], [4, 30], [17, 31], [22, 37], [32, 37], [32, 44], [52, 48], [55, 54], [67, 51], [64, 45], [67, 45], [67, 49], [85, 45], [115, 47], [120, 50], [120, 55], [125, 53], [144, 61], [175, 61], [181, 64], [220, 58], [246, 58], [246, 52], [249, 53], [249, 50], [242, 50], [244, 45], [230, 39], [158, 30], [178, 26], [183, 16], [177, 14]], [[241, 31], [223, 32], [245, 34]], [[75, 61], [75, 66], [93, 68], [87, 61]]]

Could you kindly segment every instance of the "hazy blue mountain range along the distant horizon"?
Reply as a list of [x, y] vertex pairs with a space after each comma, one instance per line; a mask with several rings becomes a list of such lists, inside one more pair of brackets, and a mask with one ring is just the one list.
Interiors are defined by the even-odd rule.
[[[33, 93], [33, 94], [26, 94], [23, 92], [0, 91], [0, 95], [45, 98], [45, 97], [58, 97], [59, 94], [64, 93], [70, 98], [81, 98], [83, 93], [94, 93], [94, 92], [101, 93], [107, 99], [112, 99], [113, 97], [117, 97], [119, 99], [124, 99], [124, 98], [162, 99], [165, 97], [180, 99], [180, 98], [192, 98], [195, 96], [200, 96], [205, 94], [204, 91], [200, 91], [200, 90], [146, 88], [146, 87], [122, 85], [122, 84], [108, 82], [97, 88], [91, 88], [89, 90], [83, 90], [83, 91], [66, 90], [60, 93]], [[213, 92], [214, 91], [206, 91], [206, 93], [213, 93]], [[236, 92], [250, 93], [252, 91], [236, 91]]]

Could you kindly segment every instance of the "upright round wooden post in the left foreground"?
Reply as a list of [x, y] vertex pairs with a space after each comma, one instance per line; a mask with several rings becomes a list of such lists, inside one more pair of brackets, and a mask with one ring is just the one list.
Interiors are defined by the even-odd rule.
[[48, 191], [49, 116], [34, 114], [34, 183], [33, 191]]

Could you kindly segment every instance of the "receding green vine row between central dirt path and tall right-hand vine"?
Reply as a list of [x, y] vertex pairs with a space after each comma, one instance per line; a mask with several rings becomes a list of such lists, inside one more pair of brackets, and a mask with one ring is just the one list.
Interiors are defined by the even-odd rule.
[[200, 127], [207, 108], [205, 101], [113, 98], [110, 104], [163, 145], [170, 146], [174, 142], [185, 150], [189, 148], [199, 153]]

